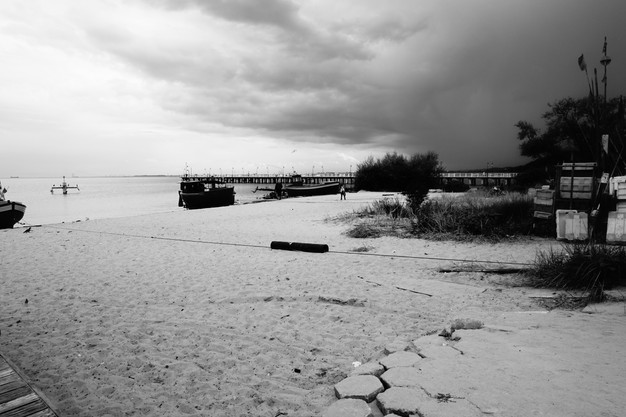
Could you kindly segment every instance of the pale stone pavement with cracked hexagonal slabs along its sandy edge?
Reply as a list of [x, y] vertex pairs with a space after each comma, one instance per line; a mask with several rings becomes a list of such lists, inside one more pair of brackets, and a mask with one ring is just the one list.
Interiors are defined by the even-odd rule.
[[626, 304], [456, 323], [357, 366], [323, 417], [622, 416]]

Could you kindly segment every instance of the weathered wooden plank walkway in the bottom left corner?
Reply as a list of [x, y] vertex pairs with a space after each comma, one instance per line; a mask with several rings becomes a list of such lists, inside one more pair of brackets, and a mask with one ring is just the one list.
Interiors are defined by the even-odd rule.
[[58, 417], [15, 366], [0, 353], [0, 417]]

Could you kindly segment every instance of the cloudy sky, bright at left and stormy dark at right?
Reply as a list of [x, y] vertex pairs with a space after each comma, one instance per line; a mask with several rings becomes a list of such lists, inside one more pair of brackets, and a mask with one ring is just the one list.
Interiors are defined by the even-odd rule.
[[[2, 0], [0, 178], [515, 166], [624, 0]], [[601, 87], [602, 89], [602, 87]]]

